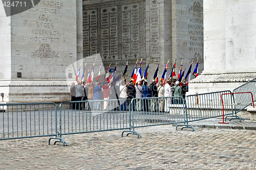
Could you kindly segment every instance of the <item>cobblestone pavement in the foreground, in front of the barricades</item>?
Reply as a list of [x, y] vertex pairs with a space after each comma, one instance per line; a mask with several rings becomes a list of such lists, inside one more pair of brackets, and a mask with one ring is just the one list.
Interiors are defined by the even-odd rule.
[[62, 136], [1, 140], [1, 169], [256, 169], [256, 131], [172, 125]]

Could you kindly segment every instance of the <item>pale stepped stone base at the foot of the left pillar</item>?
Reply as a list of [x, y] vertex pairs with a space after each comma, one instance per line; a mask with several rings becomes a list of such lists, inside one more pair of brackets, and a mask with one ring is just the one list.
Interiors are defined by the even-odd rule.
[[[67, 80], [0, 80], [1, 103], [70, 101]], [[74, 82], [74, 81], [73, 81]]]

